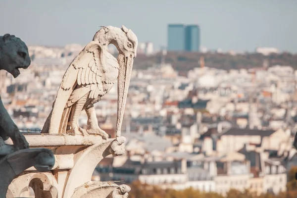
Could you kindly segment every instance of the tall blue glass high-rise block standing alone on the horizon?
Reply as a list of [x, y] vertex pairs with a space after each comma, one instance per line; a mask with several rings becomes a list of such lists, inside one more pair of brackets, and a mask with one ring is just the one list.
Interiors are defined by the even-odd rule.
[[168, 51], [199, 51], [199, 46], [200, 29], [198, 25], [168, 25]]

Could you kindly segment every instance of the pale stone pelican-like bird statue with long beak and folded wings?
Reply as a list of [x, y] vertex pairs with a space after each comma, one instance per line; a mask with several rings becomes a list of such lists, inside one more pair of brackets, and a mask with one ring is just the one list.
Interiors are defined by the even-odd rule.
[[[118, 49], [117, 59], [108, 52], [109, 44]], [[108, 135], [99, 128], [94, 103], [101, 100], [118, 80], [116, 137], [120, 137], [137, 45], [136, 35], [125, 26], [101, 28], [64, 74], [42, 133], [98, 134], [107, 139]], [[88, 130], [78, 125], [82, 110], [88, 116]]]

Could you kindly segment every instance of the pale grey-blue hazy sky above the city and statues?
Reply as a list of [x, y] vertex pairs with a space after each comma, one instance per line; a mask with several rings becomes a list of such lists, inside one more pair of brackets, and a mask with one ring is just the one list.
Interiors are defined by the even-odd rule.
[[159, 47], [168, 23], [198, 23], [208, 49], [297, 53], [297, 0], [0, 0], [0, 18], [0, 35], [28, 45], [85, 45], [99, 26], [125, 25]]

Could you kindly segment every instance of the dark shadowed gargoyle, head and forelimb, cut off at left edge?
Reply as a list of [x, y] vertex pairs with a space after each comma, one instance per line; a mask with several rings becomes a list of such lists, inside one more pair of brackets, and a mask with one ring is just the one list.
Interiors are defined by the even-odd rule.
[[[0, 70], [6, 70], [16, 78], [20, 74], [19, 69], [28, 68], [30, 63], [28, 48], [21, 39], [10, 34], [0, 37]], [[11, 138], [14, 149], [4, 144], [3, 141], [8, 138]], [[23, 148], [29, 148], [29, 144], [10, 118], [0, 99], [0, 155]]]

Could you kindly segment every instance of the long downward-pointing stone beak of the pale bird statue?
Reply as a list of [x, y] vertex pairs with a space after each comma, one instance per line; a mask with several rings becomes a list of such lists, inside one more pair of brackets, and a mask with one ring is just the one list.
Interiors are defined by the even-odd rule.
[[130, 85], [132, 67], [133, 67], [133, 54], [119, 54], [118, 62], [120, 65], [118, 75], [118, 107], [117, 107], [117, 121], [116, 121], [116, 137], [121, 136], [121, 128], [124, 117], [124, 111], [126, 106], [126, 100], [128, 95], [128, 89]]

